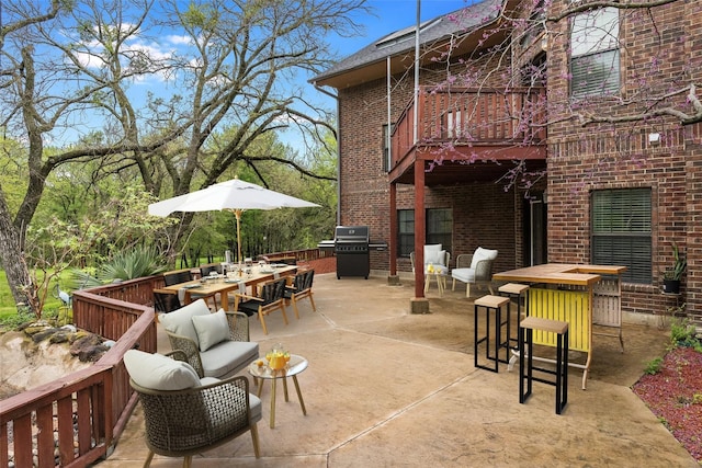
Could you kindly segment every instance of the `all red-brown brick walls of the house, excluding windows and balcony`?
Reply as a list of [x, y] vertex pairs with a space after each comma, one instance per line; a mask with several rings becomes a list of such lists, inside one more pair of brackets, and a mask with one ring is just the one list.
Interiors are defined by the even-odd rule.
[[[554, 2], [554, 11], [570, 4]], [[590, 99], [576, 109], [584, 115], [618, 110], [643, 111], [639, 95], [670, 92], [702, 75], [702, 18], [700, 1], [673, 2], [647, 10], [623, 10], [620, 23], [621, 99]], [[625, 285], [624, 309], [652, 313], [671, 306], [659, 294], [659, 272], [671, 261], [670, 242], [688, 255], [683, 282], [689, 308], [702, 306], [702, 128], [680, 127], [672, 118], [643, 123], [581, 126], [577, 119], [561, 119], [571, 110], [568, 72], [568, 21], [550, 24], [547, 44], [548, 113], [548, 261], [589, 263], [590, 192], [600, 189], [650, 187], [653, 209], [653, 275], [650, 285]], [[541, 44], [541, 43], [540, 43]], [[480, 69], [485, 64], [478, 64]], [[490, 67], [486, 67], [489, 69]], [[445, 71], [422, 70], [422, 83], [439, 82]], [[501, 73], [492, 77], [502, 79]], [[393, 121], [412, 94], [411, 77], [394, 77]], [[382, 125], [387, 101], [384, 79], [340, 90], [341, 222], [369, 225], [372, 238], [389, 242], [389, 186], [382, 164]], [[631, 100], [632, 103], [629, 103]], [[634, 101], [638, 101], [637, 104]], [[683, 103], [684, 104], [684, 103]], [[688, 106], [689, 107], [689, 106]], [[691, 109], [686, 107], [686, 111]], [[649, 145], [648, 134], [661, 141]], [[525, 214], [523, 193], [505, 192], [498, 183], [427, 189], [426, 207], [451, 207], [454, 233], [452, 254], [471, 253], [477, 246], [500, 251], [496, 270], [522, 265]], [[411, 208], [414, 187], [398, 186], [398, 208]], [[387, 252], [373, 252], [374, 270], [388, 267]], [[400, 270], [409, 262], [400, 260]]]

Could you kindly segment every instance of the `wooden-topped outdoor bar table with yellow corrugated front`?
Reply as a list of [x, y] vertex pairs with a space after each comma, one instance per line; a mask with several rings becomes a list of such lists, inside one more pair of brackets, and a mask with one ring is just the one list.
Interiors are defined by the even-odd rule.
[[[626, 266], [618, 265], [580, 265], [567, 263], [547, 263], [510, 270], [492, 275], [494, 281], [518, 282], [531, 285], [526, 313], [552, 320], [567, 321], [569, 326], [568, 345], [570, 351], [587, 354], [585, 364], [568, 363], [569, 366], [582, 369], [582, 389], [586, 389], [588, 372], [592, 361], [592, 324], [620, 327], [621, 341], [621, 274]], [[604, 289], [596, 295], [596, 285], [605, 275], [609, 279]], [[601, 298], [610, 304], [612, 318], [602, 317], [603, 310], [596, 316], [596, 300]], [[615, 303], [612, 299], [616, 299]], [[613, 304], [613, 306], [611, 306]], [[555, 336], [551, 333], [534, 331], [534, 343], [555, 346]], [[623, 347], [622, 347], [623, 350]], [[547, 361], [547, 359], [546, 359]]]

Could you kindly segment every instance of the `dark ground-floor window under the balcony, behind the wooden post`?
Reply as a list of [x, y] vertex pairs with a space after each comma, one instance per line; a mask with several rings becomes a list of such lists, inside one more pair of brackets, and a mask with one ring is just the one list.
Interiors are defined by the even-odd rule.
[[[409, 256], [415, 251], [415, 210], [397, 210], [397, 255]], [[453, 214], [451, 208], [427, 209], [427, 243], [440, 243], [451, 252]]]

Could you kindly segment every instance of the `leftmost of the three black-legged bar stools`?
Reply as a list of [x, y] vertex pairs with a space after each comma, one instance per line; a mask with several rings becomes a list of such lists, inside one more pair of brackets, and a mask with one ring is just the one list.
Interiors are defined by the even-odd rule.
[[[487, 370], [492, 370], [494, 373], [498, 372], [498, 365], [500, 362], [508, 364], [509, 363], [509, 334], [507, 339], [502, 341], [502, 327], [509, 327], [509, 308], [510, 300], [509, 297], [501, 296], [492, 296], [487, 295], [483, 296], [478, 299], [475, 299], [474, 308], [475, 308], [475, 329], [474, 329], [474, 341], [475, 341], [475, 353], [474, 353], [474, 365], [475, 367], [479, 367]], [[507, 320], [502, 320], [502, 307], [507, 306]], [[478, 315], [479, 310], [483, 308], [485, 310], [485, 336], [478, 339]], [[490, 356], [490, 316], [495, 316], [495, 355]], [[509, 328], [508, 328], [509, 332]], [[478, 345], [485, 342], [485, 357], [489, 361], [495, 362], [495, 367], [488, 367], [483, 364], [478, 364]], [[500, 347], [505, 349], [505, 359], [499, 358]]]

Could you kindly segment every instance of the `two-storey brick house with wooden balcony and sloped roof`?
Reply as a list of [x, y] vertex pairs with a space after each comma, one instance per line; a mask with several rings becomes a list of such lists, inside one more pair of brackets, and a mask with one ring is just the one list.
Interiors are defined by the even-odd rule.
[[[338, 94], [341, 224], [388, 242], [371, 266], [390, 277], [424, 243], [480, 246], [496, 271], [627, 265], [629, 320], [700, 313], [702, 106], [678, 90], [702, 77], [701, 2], [559, 21], [544, 18], [581, 3], [543, 3], [486, 0], [422, 23], [418, 48], [411, 25], [313, 80]], [[661, 294], [673, 242], [680, 296]]]

